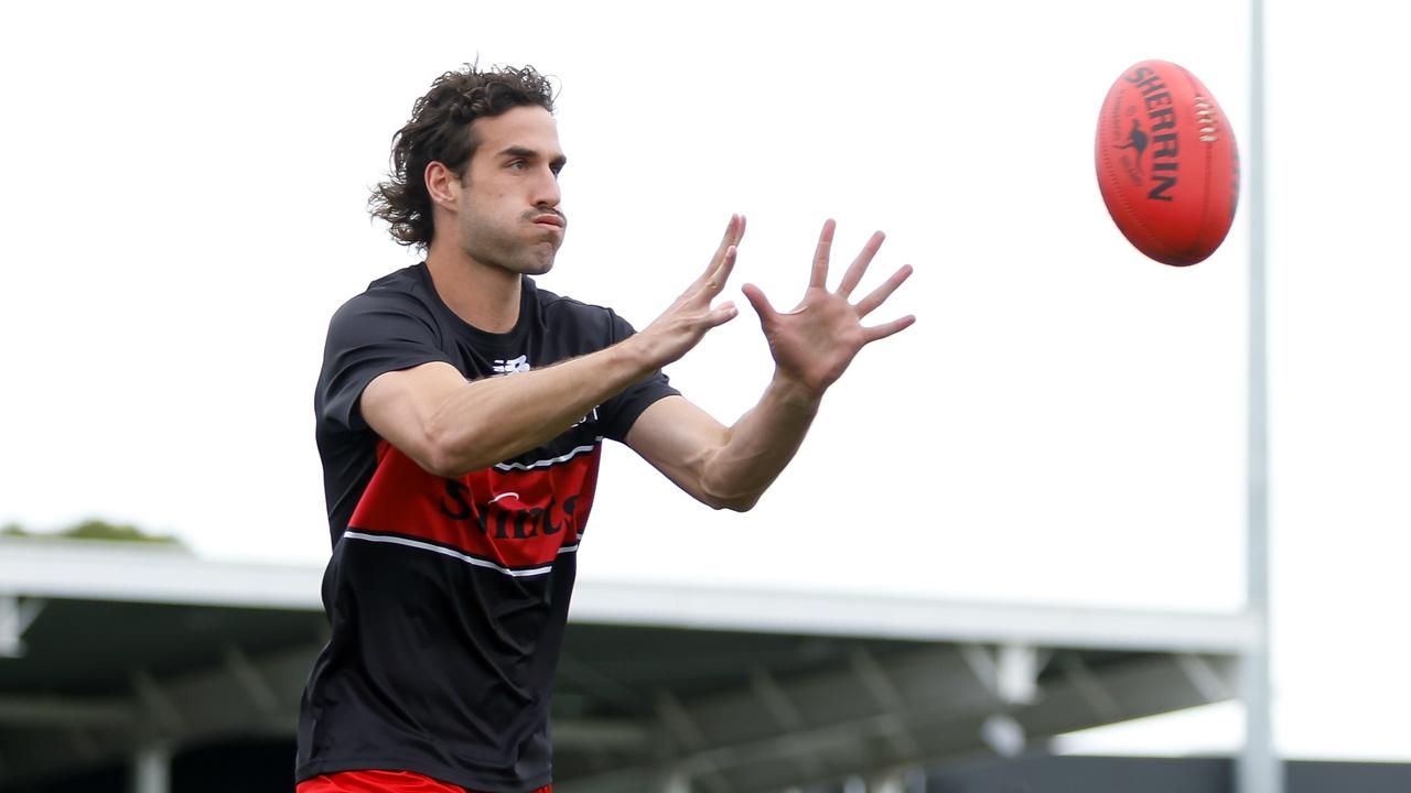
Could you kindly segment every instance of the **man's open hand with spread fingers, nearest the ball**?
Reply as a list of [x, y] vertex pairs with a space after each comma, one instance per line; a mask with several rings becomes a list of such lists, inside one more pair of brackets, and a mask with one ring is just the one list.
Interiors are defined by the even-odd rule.
[[744, 288], [745, 298], [759, 315], [759, 325], [769, 341], [769, 351], [775, 357], [777, 374], [804, 387], [813, 396], [821, 396], [834, 381], [842, 377], [862, 347], [878, 339], [886, 339], [916, 322], [916, 317], [910, 315], [871, 327], [864, 327], [861, 322], [862, 317], [886, 302], [892, 292], [912, 275], [912, 265], [904, 265], [893, 272], [866, 298], [856, 303], [848, 302], [852, 291], [866, 274], [868, 265], [872, 264], [872, 257], [882, 247], [882, 231], [872, 234], [868, 244], [862, 246], [862, 253], [852, 260], [852, 265], [842, 275], [838, 289], [828, 292], [828, 255], [832, 248], [834, 227], [832, 220], [823, 224], [818, 248], [813, 257], [809, 289], [804, 291], [803, 301], [792, 312], [776, 312], [759, 286], [745, 284]]

